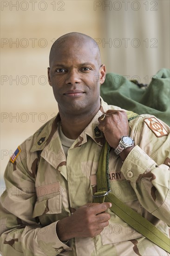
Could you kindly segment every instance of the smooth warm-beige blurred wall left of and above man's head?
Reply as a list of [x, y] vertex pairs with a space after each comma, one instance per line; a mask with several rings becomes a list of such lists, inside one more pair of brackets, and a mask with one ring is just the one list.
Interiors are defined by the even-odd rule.
[[73, 31], [98, 38], [103, 26], [92, 0], [16, 3], [1, 1], [1, 179], [18, 145], [58, 112], [46, 78], [52, 42]]

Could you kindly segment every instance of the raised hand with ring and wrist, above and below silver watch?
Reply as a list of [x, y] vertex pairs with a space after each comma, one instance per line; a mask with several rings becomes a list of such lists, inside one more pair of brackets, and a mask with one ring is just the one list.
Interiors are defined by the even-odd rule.
[[[98, 118], [98, 128], [104, 133], [106, 141], [109, 143], [111, 148], [115, 149], [118, 147], [121, 137], [129, 135], [127, 114], [122, 110], [108, 110], [104, 119], [103, 117], [104, 115]], [[132, 148], [134, 148], [134, 146], [125, 148], [120, 153], [122, 161], [125, 160]]]

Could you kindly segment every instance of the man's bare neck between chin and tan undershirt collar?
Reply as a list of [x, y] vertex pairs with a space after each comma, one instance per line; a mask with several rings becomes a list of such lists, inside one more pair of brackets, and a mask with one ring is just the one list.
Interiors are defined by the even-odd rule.
[[99, 108], [100, 107], [96, 108], [96, 110], [91, 113], [82, 115], [68, 115], [62, 111], [59, 111], [61, 118], [61, 128], [64, 135], [69, 139], [76, 140], [78, 136], [83, 132], [83, 130], [88, 126], [88, 124], [92, 121]]

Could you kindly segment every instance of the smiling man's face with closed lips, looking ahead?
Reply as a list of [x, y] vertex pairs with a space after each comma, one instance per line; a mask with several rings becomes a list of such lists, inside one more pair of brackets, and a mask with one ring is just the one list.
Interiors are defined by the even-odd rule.
[[99, 109], [105, 66], [98, 63], [96, 53], [92, 42], [75, 39], [66, 40], [62, 48], [54, 49], [48, 80], [59, 112], [79, 115]]

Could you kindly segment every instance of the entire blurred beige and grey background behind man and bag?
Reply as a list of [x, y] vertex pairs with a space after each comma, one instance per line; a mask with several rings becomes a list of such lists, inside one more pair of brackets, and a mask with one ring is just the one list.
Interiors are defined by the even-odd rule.
[[0, 1], [0, 180], [18, 145], [58, 113], [47, 67], [52, 43], [81, 32], [100, 47], [107, 72], [149, 83], [170, 67], [169, 0]]

